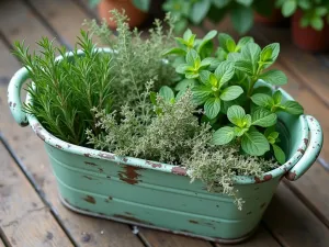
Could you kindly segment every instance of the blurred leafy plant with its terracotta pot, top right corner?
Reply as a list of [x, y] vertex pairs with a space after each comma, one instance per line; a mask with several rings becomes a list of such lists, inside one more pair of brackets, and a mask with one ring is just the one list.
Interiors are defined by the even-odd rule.
[[292, 16], [292, 37], [296, 46], [309, 52], [329, 49], [329, 2], [326, 0], [277, 0], [284, 16]]

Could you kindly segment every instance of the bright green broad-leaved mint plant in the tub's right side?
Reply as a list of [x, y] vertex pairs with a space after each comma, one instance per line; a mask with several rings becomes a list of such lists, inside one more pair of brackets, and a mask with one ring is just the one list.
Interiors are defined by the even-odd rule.
[[[178, 47], [163, 54], [175, 56], [173, 66], [180, 78], [174, 90], [181, 96], [191, 89], [193, 102], [203, 109], [202, 122], [215, 130], [213, 145], [238, 145], [243, 154], [251, 156], [270, 151], [280, 164], [285, 162], [280, 133], [275, 131], [277, 114], [299, 115], [304, 110], [298, 102], [284, 100], [282, 92], [274, 89], [287, 82], [283, 71], [270, 69], [277, 59], [280, 45], [273, 43], [261, 48], [252, 37], [235, 42], [220, 33], [219, 47], [215, 49], [209, 40], [214, 34], [211, 31], [206, 45], [200, 48], [195, 45], [196, 35], [188, 30], [182, 38], [177, 38]], [[266, 86], [259, 86], [259, 81]]]

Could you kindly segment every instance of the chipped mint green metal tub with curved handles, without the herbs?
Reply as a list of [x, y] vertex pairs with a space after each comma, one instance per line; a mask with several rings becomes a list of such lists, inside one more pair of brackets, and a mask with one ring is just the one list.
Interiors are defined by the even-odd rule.
[[[10, 110], [21, 126], [30, 124], [44, 141], [61, 202], [82, 214], [218, 243], [237, 243], [256, 231], [280, 180], [298, 179], [322, 146], [321, 127], [313, 116], [280, 115], [279, 131], [285, 136], [283, 148], [288, 160], [261, 177], [236, 177], [235, 187], [245, 201], [239, 211], [232, 198], [208, 192], [201, 181], [190, 183], [189, 170], [182, 167], [118, 158], [56, 138], [33, 115], [22, 112], [20, 91], [27, 77], [27, 70], [22, 68], [11, 79]], [[292, 99], [282, 92], [285, 99]], [[29, 94], [26, 101], [30, 102]]]

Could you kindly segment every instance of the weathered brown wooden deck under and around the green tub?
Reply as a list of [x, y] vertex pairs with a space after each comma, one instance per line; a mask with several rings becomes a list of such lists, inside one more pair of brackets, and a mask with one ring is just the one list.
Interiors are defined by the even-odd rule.
[[[214, 247], [213, 243], [139, 228], [73, 213], [59, 202], [43, 142], [19, 127], [7, 105], [7, 87], [20, 63], [10, 54], [19, 40], [35, 47], [41, 36], [71, 47], [84, 19], [93, 12], [80, 0], [0, 1], [0, 247]], [[212, 29], [205, 23], [205, 29]], [[206, 30], [196, 30], [200, 33]], [[216, 26], [235, 35], [228, 22]], [[261, 44], [281, 43], [277, 68], [288, 76], [284, 87], [317, 117], [325, 133], [322, 153], [298, 181], [283, 181], [257, 234], [240, 247], [329, 246], [329, 55], [310, 55], [290, 42], [284, 27], [257, 25]], [[326, 138], [327, 137], [327, 138]], [[325, 168], [327, 166], [327, 169]]]

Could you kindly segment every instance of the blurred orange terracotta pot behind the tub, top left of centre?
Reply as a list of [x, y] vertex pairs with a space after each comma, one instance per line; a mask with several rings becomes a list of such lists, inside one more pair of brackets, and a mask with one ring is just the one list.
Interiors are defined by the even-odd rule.
[[138, 10], [133, 4], [132, 0], [102, 0], [98, 5], [98, 9], [100, 18], [105, 19], [111, 29], [116, 29], [116, 23], [110, 20], [110, 10], [117, 9], [121, 11], [122, 9], [124, 9], [126, 15], [129, 18], [128, 24], [131, 27], [140, 25], [148, 15], [147, 13]]

